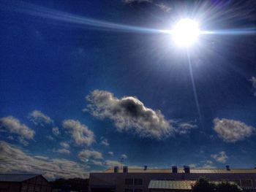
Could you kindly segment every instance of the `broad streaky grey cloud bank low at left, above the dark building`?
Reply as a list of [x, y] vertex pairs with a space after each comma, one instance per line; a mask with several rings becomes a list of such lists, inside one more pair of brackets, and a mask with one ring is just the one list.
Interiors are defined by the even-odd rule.
[[0, 170], [1, 173], [34, 173], [43, 174], [49, 180], [59, 177], [86, 178], [88, 167], [69, 161], [64, 158], [48, 158], [44, 156], [33, 156], [24, 153], [18, 147], [7, 142], [0, 141]]

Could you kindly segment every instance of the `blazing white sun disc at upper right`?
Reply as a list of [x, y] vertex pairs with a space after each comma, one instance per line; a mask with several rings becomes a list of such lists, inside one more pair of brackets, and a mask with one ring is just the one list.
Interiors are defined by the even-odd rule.
[[172, 30], [173, 41], [178, 47], [190, 47], [197, 41], [199, 34], [197, 21], [189, 18], [179, 20]]

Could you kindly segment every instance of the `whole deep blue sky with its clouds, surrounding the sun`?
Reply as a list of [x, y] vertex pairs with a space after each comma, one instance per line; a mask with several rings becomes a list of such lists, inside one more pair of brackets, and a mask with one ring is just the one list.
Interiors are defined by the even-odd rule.
[[[121, 157], [129, 166], [255, 167], [253, 6], [1, 1], [1, 170], [87, 177]], [[187, 50], [161, 32], [181, 18], [227, 32], [189, 48], [195, 90]]]

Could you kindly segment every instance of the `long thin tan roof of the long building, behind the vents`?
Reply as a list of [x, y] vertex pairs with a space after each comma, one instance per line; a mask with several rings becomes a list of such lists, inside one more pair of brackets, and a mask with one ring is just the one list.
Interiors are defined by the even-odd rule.
[[[105, 170], [105, 173], [113, 173], [114, 168]], [[123, 169], [119, 169], [118, 172], [123, 172]], [[129, 173], [172, 173], [172, 169], [143, 169], [143, 168], [129, 168]], [[184, 173], [183, 168], [178, 168], [178, 173]], [[197, 169], [190, 168], [190, 173], [256, 173], [256, 169]]]

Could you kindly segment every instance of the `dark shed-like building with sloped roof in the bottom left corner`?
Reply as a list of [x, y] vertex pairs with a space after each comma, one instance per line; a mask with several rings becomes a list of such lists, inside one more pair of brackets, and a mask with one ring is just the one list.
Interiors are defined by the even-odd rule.
[[51, 192], [40, 174], [0, 174], [0, 192]]

